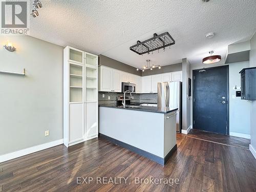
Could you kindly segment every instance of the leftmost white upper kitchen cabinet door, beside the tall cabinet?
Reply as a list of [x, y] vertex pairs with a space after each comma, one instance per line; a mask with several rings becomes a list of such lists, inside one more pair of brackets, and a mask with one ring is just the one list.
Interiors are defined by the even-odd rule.
[[99, 91], [112, 91], [112, 71], [111, 68], [99, 67]]

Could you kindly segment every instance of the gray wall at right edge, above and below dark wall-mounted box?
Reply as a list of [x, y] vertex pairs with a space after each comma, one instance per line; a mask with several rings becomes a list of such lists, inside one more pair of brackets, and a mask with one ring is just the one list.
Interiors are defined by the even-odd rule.
[[[250, 67], [256, 67], [256, 33], [251, 38]], [[256, 150], [256, 101], [251, 103], [251, 145]]]

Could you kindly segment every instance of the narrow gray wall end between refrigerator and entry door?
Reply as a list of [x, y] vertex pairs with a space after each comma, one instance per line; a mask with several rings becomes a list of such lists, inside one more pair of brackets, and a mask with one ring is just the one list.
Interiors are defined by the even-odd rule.
[[191, 98], [188, 97], [188, 78], [190, 77], [190, 63], [187, 58], [182, 59], [182, 129], [187, 130], [191, 125]]

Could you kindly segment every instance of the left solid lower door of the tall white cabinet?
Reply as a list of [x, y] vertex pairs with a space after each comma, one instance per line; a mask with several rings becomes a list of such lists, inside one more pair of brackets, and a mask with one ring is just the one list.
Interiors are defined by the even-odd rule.
[[82, 140], [84, 137], [83, 114], [83, 103], [70, 104], [69, 143]]

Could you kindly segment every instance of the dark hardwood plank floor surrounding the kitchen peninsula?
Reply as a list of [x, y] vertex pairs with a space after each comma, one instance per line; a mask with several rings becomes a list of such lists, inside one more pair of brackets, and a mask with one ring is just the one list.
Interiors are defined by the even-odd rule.
[[[104, 139], [58, 145], [0, 163], [0, 191], [256, 191], [250, 151], [183, 134], [177, 134], [177, 145], [165, 166]], [[77, 184], [77, 177], [94, 180]], [[96, 177], [128, 179], [127, 184], [96, 184]], [[136, 184], [135, 177], [180, 182]]]

